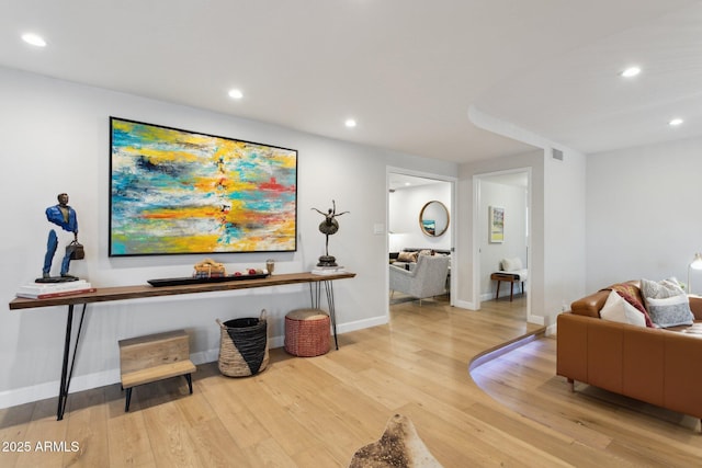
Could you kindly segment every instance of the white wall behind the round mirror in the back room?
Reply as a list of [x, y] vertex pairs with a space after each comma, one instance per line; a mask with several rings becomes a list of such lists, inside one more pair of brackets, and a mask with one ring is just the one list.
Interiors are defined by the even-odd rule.
[[427, 236], [419, 226], [419, 213], [431, 201], [439, 201], [449, 210], [449, 222], [454, 222], [451, 207], [451, 184], [437, 182], [416, 187], [398, 189], [388, 196], [389, 249], [399, 252], [405, 248], [450, 250], [451, 226], [443, 236]]

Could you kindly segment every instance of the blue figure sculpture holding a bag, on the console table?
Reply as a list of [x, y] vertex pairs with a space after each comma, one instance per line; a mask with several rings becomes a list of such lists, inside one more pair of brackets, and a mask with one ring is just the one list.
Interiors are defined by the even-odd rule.
[[[59, 193], [56, 197], [58, 204], [46, 208], [46, 219], [52, 224], [49, 225], [48, 239], [46, 241], [46, 254], [44, 255], [44, 266], [42, 269], [42, 277], [36, 279], [36, 283], [60, 283], [78, 279], [76, 276], [68, 274], [71, 260], [80, 260], [84, 256], [78, 256], [78, 216], [76, 210], [68, 205], [68, 194]], [[55, 229], [58, 226], [60, 230]], [[72, 236], [68, 236], [72, 233]], [[71, 241], [66, 248], [66, 253], [61, 260], [60, 276], [52, 276], [52, 263], [54, 262], [54, 254], [58, 248], [59, 237], [65, 238], [66, 241]], [[72, 247], [71, 247], [72, 246]], [[80, 246], [80, 252], [82, 252], [82, 246]]]

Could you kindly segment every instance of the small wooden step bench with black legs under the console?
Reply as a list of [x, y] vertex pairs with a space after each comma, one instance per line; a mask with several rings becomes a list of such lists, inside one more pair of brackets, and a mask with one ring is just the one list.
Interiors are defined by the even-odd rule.
[[192, 395], [191, 374], [195, 369], [184, 330], [121, 340], [120, 372], [122, 388], [126, 390], [124, 411], [129, 411], [132, 389], [137, 385], [184, 375]]

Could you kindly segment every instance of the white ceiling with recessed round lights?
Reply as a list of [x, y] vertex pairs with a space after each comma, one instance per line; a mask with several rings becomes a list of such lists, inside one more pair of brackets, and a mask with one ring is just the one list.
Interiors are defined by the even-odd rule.
[[[478, 127], [472, 107], [487, 128], [586, 153], [702, 135], [702, 1], [0, 5], [0, 66], [409, 155], [465, 162], [532, 148]], [[643, 71], [626, 80], [630, 65]], [[669, 127], [673, 116], [684, 124]]]

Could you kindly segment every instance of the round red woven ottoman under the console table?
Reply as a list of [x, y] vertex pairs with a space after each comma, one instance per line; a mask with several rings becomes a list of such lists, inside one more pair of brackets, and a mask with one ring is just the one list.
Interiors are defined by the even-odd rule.
[[285, 351], [312, 357], [329, 351], [329, 316], [320, 309], [297, 309], [285, 316]]

